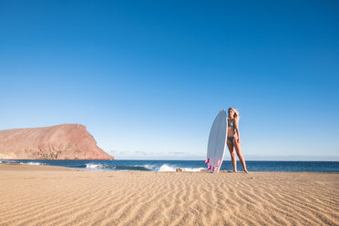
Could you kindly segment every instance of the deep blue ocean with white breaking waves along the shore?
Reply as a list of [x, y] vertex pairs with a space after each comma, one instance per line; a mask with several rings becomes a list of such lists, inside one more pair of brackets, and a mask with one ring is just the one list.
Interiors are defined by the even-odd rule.
[[[202, 171], [207, 167], [203, 160], [44, 160], [44, 159], [2, 159], [0, 163], [19, 163], [29, 165], [46, 165], [69, 167], [81, 170], [118, 170], [118, 171]], [[246, 161], [249, 171], [280, 171], [280, 172], [339, 172], [338, 161]], [[237, 162], [238, 171], [242, 170], [241, 163]], [[230, 160], [224, 160], [221, 170], [232, 171]]]

